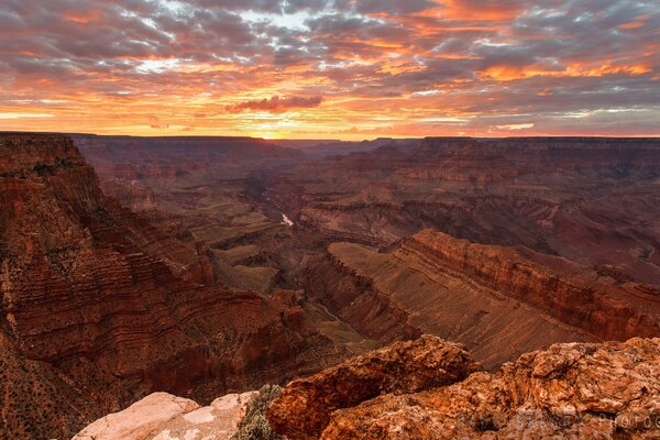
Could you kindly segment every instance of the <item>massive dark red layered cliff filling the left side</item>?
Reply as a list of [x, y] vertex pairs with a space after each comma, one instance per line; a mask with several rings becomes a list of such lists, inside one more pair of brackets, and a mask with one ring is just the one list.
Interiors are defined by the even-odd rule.
[[0, 395], [11, 421], [0, 437], [67, 437], [153, 391], [204, 400], [336, 359], [295, 295], [186, 280], [211, 277], [207, 251], [106, 197], [70, 139], [1, 135]]

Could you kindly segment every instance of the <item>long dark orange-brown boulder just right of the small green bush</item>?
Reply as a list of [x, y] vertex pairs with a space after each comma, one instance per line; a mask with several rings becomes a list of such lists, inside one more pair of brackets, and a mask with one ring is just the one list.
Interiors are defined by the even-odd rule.
[[[479, 364], [459, 344], [425, 336], [396, 342], [317, 375], [292, 382], [267, 410], [273, 429], [314, 439], [333, 411], [387, 393], [414, 393], [462, 381]], [[345, 438], [345, 437], [334, 437]]]

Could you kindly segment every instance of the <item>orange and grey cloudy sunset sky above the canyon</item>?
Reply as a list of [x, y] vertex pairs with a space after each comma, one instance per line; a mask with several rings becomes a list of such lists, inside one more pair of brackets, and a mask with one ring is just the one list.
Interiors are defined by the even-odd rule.
[[0, 130], [660, 135], [660, 3], [0, 0]]

